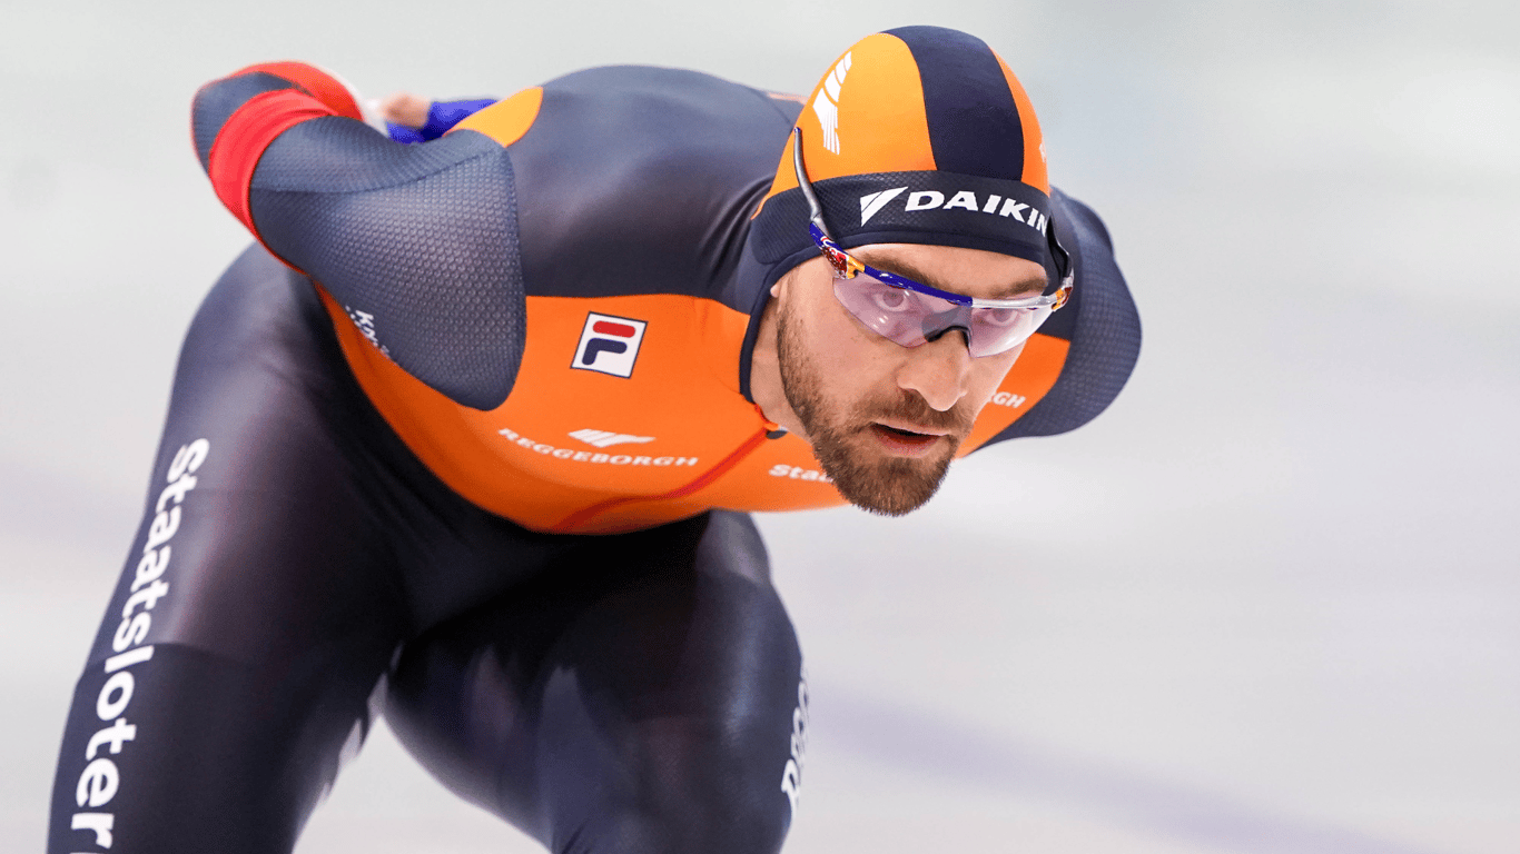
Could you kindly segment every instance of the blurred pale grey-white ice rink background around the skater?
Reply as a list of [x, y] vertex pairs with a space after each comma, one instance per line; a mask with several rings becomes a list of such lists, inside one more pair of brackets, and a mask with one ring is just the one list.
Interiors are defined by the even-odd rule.
[[[43, 846], [181, 334], [246, 242], [201, 82], [806, 91], [910, 23], [1020, 74], [1146, 343], [1102, 418], [914, 518], [762, 520], [815, 704], [789, 851], [1520, 851], [1520, 12], [1476, 0], [0, 2], [0, 848]], [[534, 849], [383, 728], [299, 848]]]

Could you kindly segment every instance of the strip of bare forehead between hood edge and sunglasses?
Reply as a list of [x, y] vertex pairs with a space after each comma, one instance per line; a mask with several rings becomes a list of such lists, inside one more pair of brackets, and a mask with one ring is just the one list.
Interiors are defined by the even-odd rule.
[[1044, 292], [1046, 269], [1028, 258], [985, 249], [924, 243], [871, 243], [850, 254], [921, 284], [980, 299], [1011, 299]]

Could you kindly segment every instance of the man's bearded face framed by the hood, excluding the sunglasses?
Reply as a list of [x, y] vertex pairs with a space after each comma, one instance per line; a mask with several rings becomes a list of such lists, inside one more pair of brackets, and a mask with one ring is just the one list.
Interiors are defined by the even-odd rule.
[[[1046, 287], [1040, 264], [980, 249], [880, 243], [851, 254], [967, 296], [1011, 299]], [[822, 258], [787, 274], [777, 299], [781, 387], [834, 486], [877, 514], [923, 506], [1023, 346], [973, 359], [958, 330], [921, 346], [892, 343], [839, 304]]]

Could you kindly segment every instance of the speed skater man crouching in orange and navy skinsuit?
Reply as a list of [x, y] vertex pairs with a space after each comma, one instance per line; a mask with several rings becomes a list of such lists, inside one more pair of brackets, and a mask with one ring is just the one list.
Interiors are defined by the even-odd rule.
[[1107, 231], [938, 27], [801, 103], [603, 68], [435, 141], [359, 119], [293, 62], [196, 97], [261, 246], [187, 336], [49, 851], [289, 851], [382, 707], [556, 852], [777, 851], [807, 688], [748, 512], [901, 515], [1105, 409]]

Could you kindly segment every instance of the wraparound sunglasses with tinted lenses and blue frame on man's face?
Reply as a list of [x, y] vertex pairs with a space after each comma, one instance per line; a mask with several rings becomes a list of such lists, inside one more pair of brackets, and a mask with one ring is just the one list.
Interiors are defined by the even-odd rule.
[[892, 343], [920, 346], [950, 330], [961, 330], [973, 357], [997, 356], [1028, 340], [1072, 295], [1070, 257], [1055, 240], [1053, 222], [1049, 242], [1061, 275], [1061, 287], [1055, 293], [1023, 299], [977, 299], [862, 263], [839, 248], [824, 225], [824, 208], [803, 166], [801, 128], [792, 131], [792, 161], [796, 166], [796, 184], [807, 199], [807, 231], [834, 272], [834, 296], [854, 319]]

